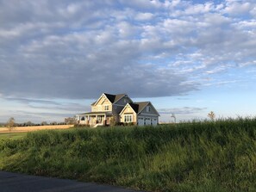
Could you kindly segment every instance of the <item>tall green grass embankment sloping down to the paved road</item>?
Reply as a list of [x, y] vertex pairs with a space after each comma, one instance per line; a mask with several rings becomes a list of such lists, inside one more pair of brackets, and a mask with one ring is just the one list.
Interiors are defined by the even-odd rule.
[[148, 191], [255, 191], [256, 118], [0, 140], [0, 169]]

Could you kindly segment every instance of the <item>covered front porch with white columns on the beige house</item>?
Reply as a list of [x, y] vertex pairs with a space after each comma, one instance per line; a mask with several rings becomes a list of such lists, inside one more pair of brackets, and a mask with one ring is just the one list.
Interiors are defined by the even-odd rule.
[[78, 115], [78, 123], [81, 125], [108, 126], [111, 118], [108, 112], [90, 112]]

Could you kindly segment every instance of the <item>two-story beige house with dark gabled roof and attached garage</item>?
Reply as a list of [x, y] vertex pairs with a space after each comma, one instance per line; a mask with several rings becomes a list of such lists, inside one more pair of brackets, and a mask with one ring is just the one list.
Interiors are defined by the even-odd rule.
[[151, 102], [133, 102], [127, 94], [103, 93], [91, 103], [91, 112], [78, 115], [79, 124], [90, 126], [109, 125], [111, 119], [134, 125], [157, 125], [159, 113]]

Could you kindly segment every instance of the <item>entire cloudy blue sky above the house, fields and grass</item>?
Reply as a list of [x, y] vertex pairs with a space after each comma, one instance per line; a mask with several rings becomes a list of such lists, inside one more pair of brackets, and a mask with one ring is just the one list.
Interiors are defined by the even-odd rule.
[[255, 0], [0, 0], [0, 122], [64, 121], [103, 92], [159, 121], [256, 115]]

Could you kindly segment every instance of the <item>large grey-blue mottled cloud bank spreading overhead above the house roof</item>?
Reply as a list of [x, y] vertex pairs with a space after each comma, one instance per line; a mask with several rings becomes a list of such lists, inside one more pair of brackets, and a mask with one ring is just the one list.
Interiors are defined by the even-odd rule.
[[0, 94], [52, 100], [200, 90], [206, 74], [214, 82], [254, 66], [255, 8], [253, 1], [2, 1]]

